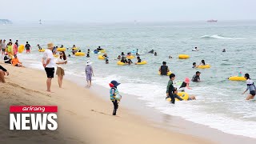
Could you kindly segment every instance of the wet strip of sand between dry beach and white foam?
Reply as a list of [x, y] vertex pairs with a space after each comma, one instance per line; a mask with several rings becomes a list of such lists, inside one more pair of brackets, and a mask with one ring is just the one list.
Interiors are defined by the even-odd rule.
[[[78, 86], [82, 86], [83, 83], [86, 83], [85, 79], [83, 79], [82, 81], [81, 78], [73, 75], [67, 74], [66, 78], [71, 82], [78, 82]], [[96, 96], [98, 96], [98, 98], [102, 98], [106, 102], [110, 101], [109, 97], [106, 96], [106, 94], [109, 93], [109, 89], [94, 84], [93, 81], [92, 84], [93, 86], [90, 88], [90, 90]], [[120, 92], [120, 94], [124, 96], [122, 98], [120, 107], [123, 106], [125, 109], [128, 109], [131, 114], [136, 114], [143, 119], [152, 122], [151, 124], [153, 126], [157, 126], [165, 130], [174, 130], [175, 132], [182, 134], [190, 134], [199, 138], [210, 139], [212, 142], [218, 142], [223, 144], [226, 144], [227, 142], [232, 142], [234, 144], [242, 142], [256, 142], [256, 138], [250, 138], [237, 134], [228, 134], [222, 132], [221, 130], [211, 128], [210, 126], [188, 121], [182, 117], [173, 116], [170, 114], [163, 114], [160, 111], [154, 109], [153, 107], [146, 106], [145, 101], [138, 99], [138, 97], [133, 94], [123, 94], [122, 91]]]

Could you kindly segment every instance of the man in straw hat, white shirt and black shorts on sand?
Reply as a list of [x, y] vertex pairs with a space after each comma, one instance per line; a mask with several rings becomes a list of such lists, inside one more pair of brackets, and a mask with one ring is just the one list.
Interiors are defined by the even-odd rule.
[[47, 49], [45, 50], [42, 56], [42, 66], [45, 68], [46, 74], [47, 74], [47, 80], [46, 80], [47, 90], [46, 91], [48, 92], [51, 92], [50, 90], [51, 79], [54, 78], [55, 62], [54, 62], [54, 54], [52, 52], [53, 49], [54, 49], [54, 44], [52, 42], [48, 43]]

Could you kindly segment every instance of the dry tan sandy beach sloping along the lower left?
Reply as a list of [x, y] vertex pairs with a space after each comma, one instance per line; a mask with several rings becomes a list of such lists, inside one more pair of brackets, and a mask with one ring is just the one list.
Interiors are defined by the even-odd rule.
[[[40, 70], [1, 64], [9, 72], [0, 83], [0, 142], [5, 143], [212, 143], [203, 138], [154, 127], [122, 105], [112, 116], [112, 103], [73, 82], [64, 81], [46, 92], [46, 74]], [[108, 94], [106, 94], [108, 95]], [[58, 130], [9, 130], [10, 105], [57, 105]]]

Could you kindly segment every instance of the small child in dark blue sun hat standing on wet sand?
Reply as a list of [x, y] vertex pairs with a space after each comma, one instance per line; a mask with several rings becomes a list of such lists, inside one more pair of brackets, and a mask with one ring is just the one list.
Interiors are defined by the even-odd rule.
[[113, 115], [117, 114], [118, 110], [118, 101], [122, 98], [122, 96], [118, 92], [118, 83], [117, 81], [111, 81], [110, 82], [110, 100], [113, 102], [114, 105], [114, 110], [113, 110]]

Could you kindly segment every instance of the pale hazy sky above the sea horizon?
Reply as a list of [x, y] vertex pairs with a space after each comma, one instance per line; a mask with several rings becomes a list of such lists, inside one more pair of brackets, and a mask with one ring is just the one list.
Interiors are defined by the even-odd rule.
[[[256, 0], [0, 0], [14, 22], [169, 22], [256, 19]], [[4, 6], [2, 6], [4, 4]]]

